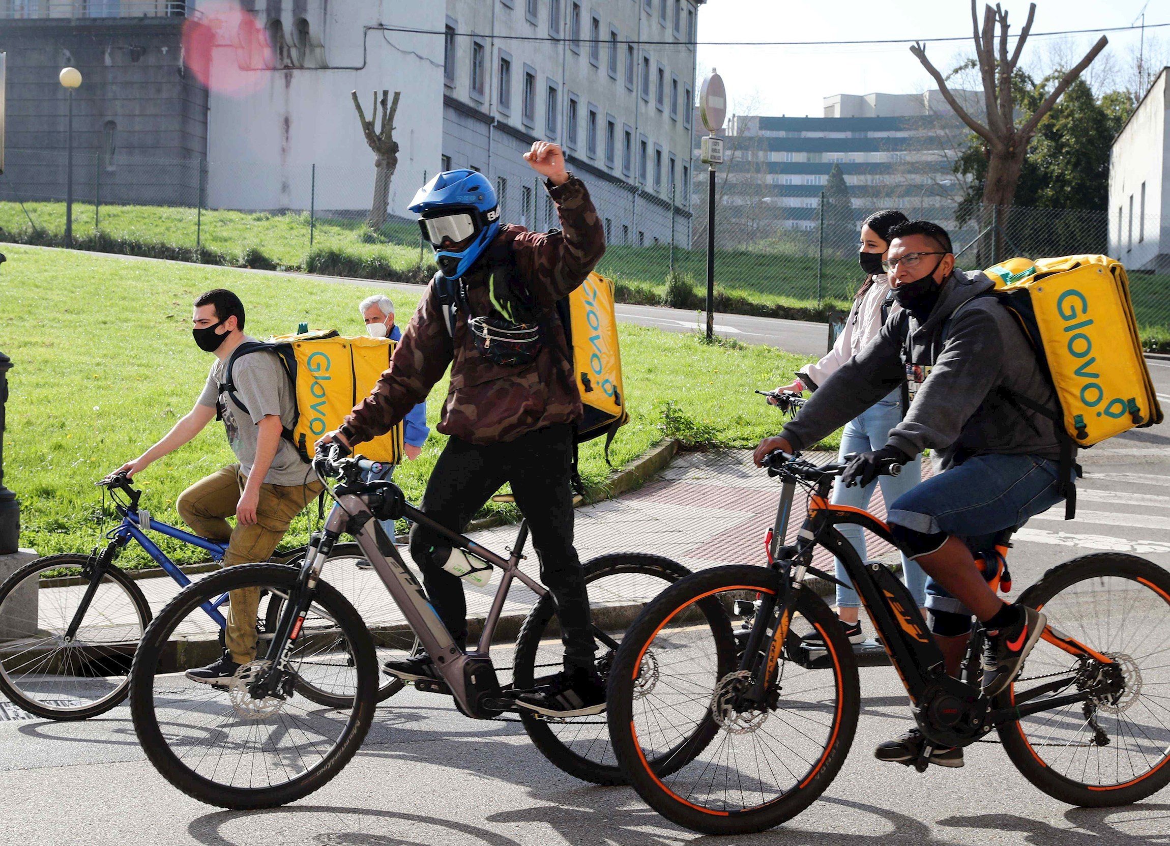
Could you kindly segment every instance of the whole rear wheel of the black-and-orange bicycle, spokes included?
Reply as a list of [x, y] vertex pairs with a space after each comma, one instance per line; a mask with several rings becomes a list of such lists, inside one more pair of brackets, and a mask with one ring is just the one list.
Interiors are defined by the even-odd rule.
[[1042, 608], [1049, 628], [1115, 663], [1040, 640], [998, 707], [1061, 679], [1067, 686], [1048, 695], [1106, 690], [1100, 681], [1109, 674], [1117, 685], [1087, 702], [1000, 725], [1012, 763], [1071, 805], [1128, 805], [1170, 784], [1170, 573], [1131, 555], [1087, 555], [1046, 572], [1019, 601]]

